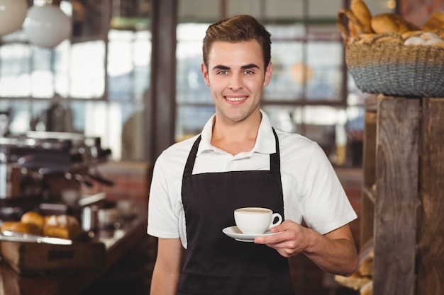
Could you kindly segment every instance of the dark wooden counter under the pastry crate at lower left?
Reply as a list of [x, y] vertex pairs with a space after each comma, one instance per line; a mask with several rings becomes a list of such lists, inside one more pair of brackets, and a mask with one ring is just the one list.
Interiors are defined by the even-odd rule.
[[75, 295], [82, 294], [106, 270], [146, 235], [147, 215], [123, 223], [120, 229], [101, 230], [96, 234], [106, 245], [105, 267], [100, 271], [76, 271], [70, 274], [19, 275], [0, 261], [0, 294], [2, 295]]

